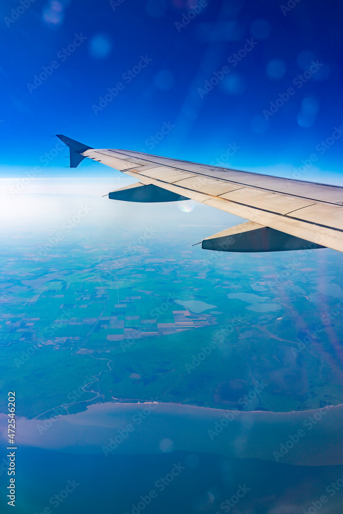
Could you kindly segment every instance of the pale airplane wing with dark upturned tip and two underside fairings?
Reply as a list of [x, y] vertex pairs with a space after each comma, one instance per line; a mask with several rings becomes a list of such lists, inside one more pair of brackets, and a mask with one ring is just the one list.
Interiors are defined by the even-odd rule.
[[129, 150], [94, 149], [63, 135], [70, 167], [84, 158], [137, 179], [109, 193], [135, 202], [193, 199], [249, 220], [204, 238], [202, 248], [261, 252], [343, 251], [343, 187], [279, 178]]

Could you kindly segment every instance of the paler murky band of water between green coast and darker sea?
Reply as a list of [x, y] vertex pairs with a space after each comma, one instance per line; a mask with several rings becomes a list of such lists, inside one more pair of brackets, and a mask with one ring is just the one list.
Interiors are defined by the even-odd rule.
[[[6, 436], [7, 417], [0, 414]], [[343, 405], [297, 412], [182, 403], [95, 403], [47, 420], [17, 417], [17, 444], [71, 453], [182, 450], [302, 466], [343, 465]], [[167, 449], [166, 449], [167, 448]]]

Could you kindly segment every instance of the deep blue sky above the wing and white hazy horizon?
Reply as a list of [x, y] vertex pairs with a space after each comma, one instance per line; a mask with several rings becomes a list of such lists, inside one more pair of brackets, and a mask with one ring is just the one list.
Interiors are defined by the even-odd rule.
[[4, 0], [0, 10], [2, 177], [35, 166], [113, 173], [88, 161], [65, 169], [58, 133], [283, 176], [315, 155], [301, 178], [341, 183], [339, 2]]

